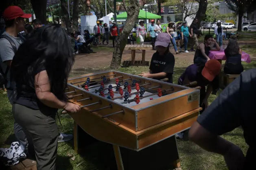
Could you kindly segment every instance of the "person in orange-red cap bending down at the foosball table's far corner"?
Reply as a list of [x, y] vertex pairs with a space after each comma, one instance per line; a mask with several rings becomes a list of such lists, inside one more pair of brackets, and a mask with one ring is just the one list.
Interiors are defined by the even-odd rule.
[[[197, 81], [200, 86], [200, 101], [199, 106], [203, 108], [200, 114], [209, 106], [208, 98], [212, 91], [214, 93], [219, 89], [219, 73], [221, 72], [221, 64], [218, 60], [209, 60], [205, 65], [192, 64], [186, 68], [185, 72], [179, 77], [178, 85], [186, 85], [190, 82]], [[206, 89], [207, 86], [207, 89]], [[192, 87], [192, 88], [193, 88]], [[175, 135], [177, 138], [183, 138], [184, 131]]]

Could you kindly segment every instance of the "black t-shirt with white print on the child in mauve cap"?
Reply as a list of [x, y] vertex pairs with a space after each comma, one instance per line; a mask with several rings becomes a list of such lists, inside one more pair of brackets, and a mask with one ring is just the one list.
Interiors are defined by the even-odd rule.
[[173, 83], [173, 68], [175, 64], [174, 55], [172, 53], [168, 53], [165, 55], [159, 55], [158, 52], [154, 53], [151, 58], [151, 63], [149, 66], [149, 70], [152, 71], [152, 74], [166, 72], [166, 77], [154, 78], [156, 80], [161, 80], [164, 78], [168, 78], [168, 83]]

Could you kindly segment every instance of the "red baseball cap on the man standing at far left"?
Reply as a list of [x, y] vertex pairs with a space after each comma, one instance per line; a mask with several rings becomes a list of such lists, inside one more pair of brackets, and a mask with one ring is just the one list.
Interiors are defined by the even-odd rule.
[[11, 20], [18, 17], [30, 18], [31, 14], [25, 14], [19, 6], [8, 6], [3, 13], [5, 20]]

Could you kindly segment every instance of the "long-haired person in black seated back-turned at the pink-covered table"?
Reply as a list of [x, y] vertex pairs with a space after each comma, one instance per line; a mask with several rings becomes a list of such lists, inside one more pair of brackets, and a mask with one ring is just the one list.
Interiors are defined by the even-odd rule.
[[230, 38], [227, 48], [224, 50], [226, 62], [224, 66], [224, 73], [226, 74], [241, 74], [243, 72], [243, 65], [241, 62], [242, 49], [239, 48], [238, 42]]

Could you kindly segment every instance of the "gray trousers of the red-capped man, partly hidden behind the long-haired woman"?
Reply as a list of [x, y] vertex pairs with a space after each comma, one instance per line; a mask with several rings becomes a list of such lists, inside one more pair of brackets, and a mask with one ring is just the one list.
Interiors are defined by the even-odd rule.
[[[11, 103], [11, 105], [13, 107], [13, 100], [16, 97], [16, 91], [7, 89], [7, 96], [8, 96], [9, 102]], [[13, 110], [13, 108], [12, 108], [12, 110]], [[22, 144], [22, 150], [25, 153], [28, 153], [28, 140], [26, 138], [24, 130], [15, 120], [14, 120], [14, 124], [13, 124], [13, 130], [14, 130], [14, 134], [15, 134], [15, 137], [17, 138], [18, 142], [20, 142]]]

